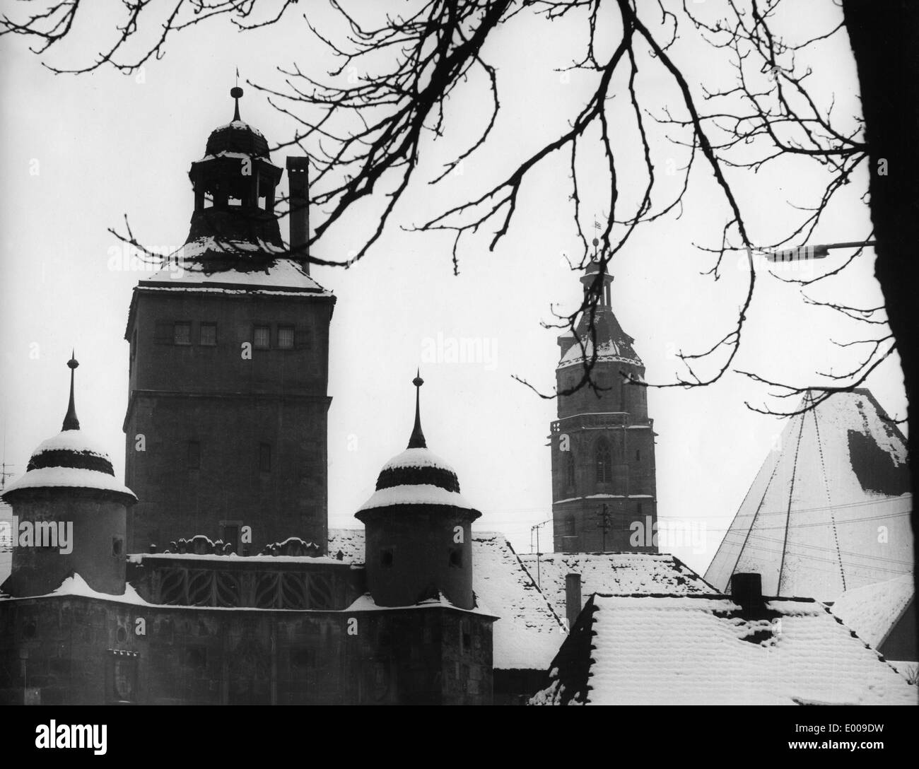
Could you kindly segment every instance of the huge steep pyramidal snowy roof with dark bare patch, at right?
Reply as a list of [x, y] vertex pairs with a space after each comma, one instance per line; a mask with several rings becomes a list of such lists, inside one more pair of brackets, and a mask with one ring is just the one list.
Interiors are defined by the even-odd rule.
[[767, 595], [833, 601], [913, 571], [909, 468], [902, 433], [868, 390], [841, 392], [789, 420], [721, 541], [705, 578], [738, 571]]

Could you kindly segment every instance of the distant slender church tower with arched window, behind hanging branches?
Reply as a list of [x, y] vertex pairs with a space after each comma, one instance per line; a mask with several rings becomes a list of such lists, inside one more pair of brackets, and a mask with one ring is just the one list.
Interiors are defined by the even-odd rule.
[[[596, 246], [596, 240], [594, 241]], [[555, 369], [561, 393], [590, 372], [598, 392], [583, 386], [558, 397], [551, 424], [552, 528], [556, 552], [632, 550], [657, 552], [654, 431], [648, 418], [644, 365], [613, 312], [613, 277], [591, 260], [581, 277], [584, 294], [596, 292], [592, 334], [589, 313], [575, 336], [559, 337], [562, 358]]]

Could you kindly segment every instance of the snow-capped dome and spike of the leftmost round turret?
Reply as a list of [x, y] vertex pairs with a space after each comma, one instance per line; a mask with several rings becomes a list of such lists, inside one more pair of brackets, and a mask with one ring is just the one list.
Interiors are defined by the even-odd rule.
[[108, 454], [96, 447], [80, 429], [74, 406], [74, 369], [79, 365], [73, 355], [67, 361], [70, 402], [61, 433], [42, 442], [32, 452], [25, 474], [3, 493], [4, 502], [14, 503], [25, 496], [25, 492], [41, 489], [89, 490], [94, 496], [125, 504], [137, 502], [134, 493], [115, 477]]

